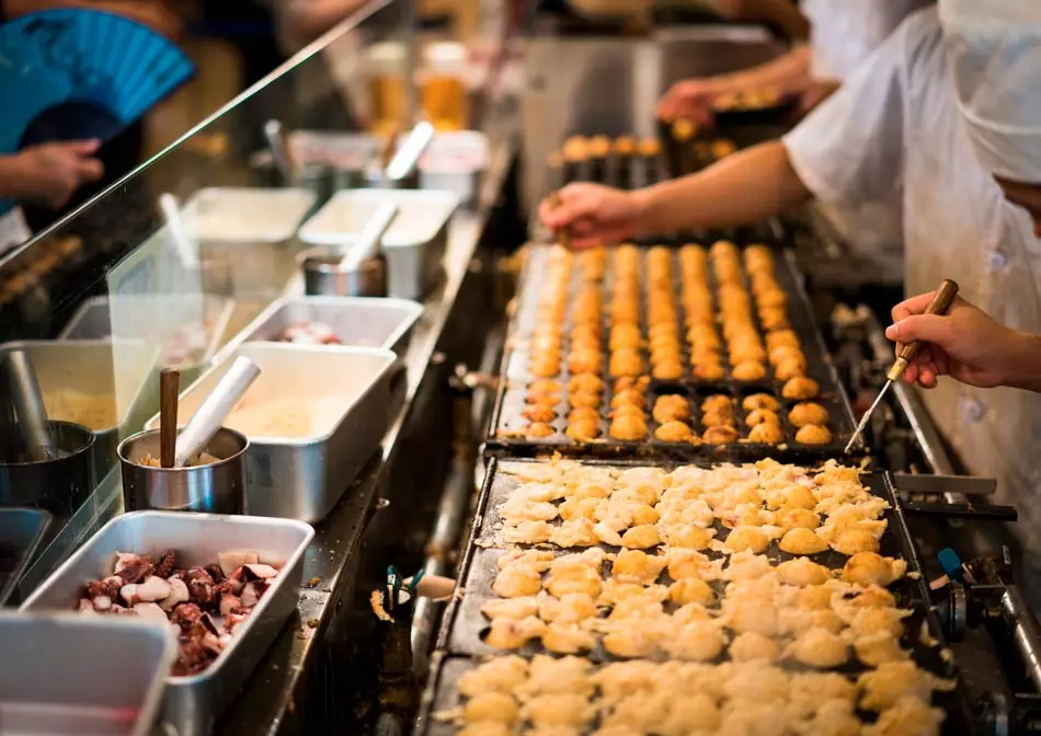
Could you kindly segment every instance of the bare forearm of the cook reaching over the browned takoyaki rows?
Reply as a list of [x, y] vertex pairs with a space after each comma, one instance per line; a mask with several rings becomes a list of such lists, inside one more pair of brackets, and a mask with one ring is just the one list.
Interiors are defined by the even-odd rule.
[[727, 227], [779, 215], [810, 198], [780, 141], [728, 157], [637, 195], [641, 232]]

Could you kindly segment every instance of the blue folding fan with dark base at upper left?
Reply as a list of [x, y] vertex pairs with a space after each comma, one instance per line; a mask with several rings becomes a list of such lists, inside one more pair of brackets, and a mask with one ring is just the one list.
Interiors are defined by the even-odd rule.
[[[55, 140], [107, 141], [195, 71], [135, 21], [49, 10], [0, 25], [0, 153]], [[0, 202], [0, 214], [11, 208]]]

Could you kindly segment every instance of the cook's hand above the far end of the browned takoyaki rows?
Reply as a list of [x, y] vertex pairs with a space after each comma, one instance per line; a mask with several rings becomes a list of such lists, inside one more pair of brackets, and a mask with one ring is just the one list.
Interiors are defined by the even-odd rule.
[[639, 192], [580, 182], [569, 184], [557, 196], [559, 202], [542, 200], [539, 219], [553, 230], [567, 229], [576, 250], [618, 243], [639, 229], [643, 211]]

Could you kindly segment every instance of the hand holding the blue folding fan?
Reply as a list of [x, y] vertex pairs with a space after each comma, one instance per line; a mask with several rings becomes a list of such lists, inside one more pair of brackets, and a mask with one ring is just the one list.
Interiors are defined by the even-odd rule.
[[58, 209], [80, 186], [104, 174], [93, 158], [99, 140], [72, 140], [32, 146], [16, 156], [20, 197], [35, 199]]

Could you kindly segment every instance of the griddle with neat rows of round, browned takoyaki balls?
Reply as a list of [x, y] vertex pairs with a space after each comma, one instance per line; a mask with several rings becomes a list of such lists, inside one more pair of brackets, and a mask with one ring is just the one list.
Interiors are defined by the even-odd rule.
[[[625, 300], [618, 298], [615, 271], [620, 264], [632, 261], [630, 254], [611, 250], [599, 258], [593, 258], [594, 254], [586, 252], [569, 263], [567, 255], [559, 249], [533, 248], [525, 266], [518, 308], [511, 324], [503, 371], [506, 380], [500, 387], [489, 447], [519, 455], [552, 449], [565, 455], [605, 458], [702, 461], [760, 457], [811, 461], [840, 452], [854, 423], [813, 323], [804, 292], [783, 253], [770, 254], [765, 249], [758, 250], [754, 254], [757, 260], [752, 258], [752, 251], [746, 251], [742, 265], [736, 263], [732, 250], [729, 253], [725, 250], [720, 252], [728, 262], [717, 257], [719, 248], [711, 251], [693, 246], [671, 251], [630, 249], [630, 254], [633, 251], [639, 254], [636, 276], [644, 283], [639, 291], [640, 313], [637, 322], [629, 326], [619, 323], [627, 315], [618, 311], [625, 307]], [[622, 255], [630, 257], [621, 258]], [[773, 276], [766, 274], [769, 280], [760, 283], [764, 263]], [[721, 271], [722, 266], [728, 268]], [[663, 267], [665, 275], [672, 278], [674, 291], [671, 300], [667, 290], [663, 292], [661, 288]], [[631, 271], [632, 266], [626, 268]], [[659, 286], [654, 289], [645, 283], [648, 273], [656, 274], [655, 283]], [[754, 273], [754, 279], [750, 278], [750, 273]], [[691, 287], [699, 274], [703, 281]], [[718, 284], [720, 274], [731, 279], [740, 275], [739, 294], [730, 294], [734, 288], [728, 285], [723, 298], [720, 298], [720, 294], [723, 294]], [[547, 301], [560, 299], [553, 292], [553, 278], [567, 279], [567, 301], [562, 306], [558, 306], [557, 301]], [[599, 300], [603, 322], [598, 325], [588, 324], [588, 314], [595, 313], [597, 309], [596, 302], [591, 307], [591, 283], [604, 285]], [[702, 297], [710, 297], [711, 301], [701, 301], [702, 306], [698, 308], [706, 310], [708, 318], [718, 314], [718, 324], [711, 319], [708, 322], [700, 321], [703, 320], [702, 315], [689, 311], [695, 303], [691, 299], [700, 300]], [[631, 301], [631, 297], [627, 298]], [[662, 323], [663, 299], [665, 319], [678, 321], [675, 330], [670, 331], [670, 325]], [[750, 309], [759, 312], [752, 317], [754, 332], [743, 327], [739, 330], [739, 324], [748, 324], [747, 318], [733, 315], [733, 304], [740, 307], [742, 299]], [[780, 307], [775, 306], [775, 300], [780, 302]], [[675, 317], [670, 318], [670, 314]], [[559, 341], [547, 343], [544, 333], [558, 317], [562, 323], [557, 333]], [[764, 325], [774, 329], [765, 329]], [[587, 343], [580, 344], [576, 341], [585, 340], [588, 333], [595, 335], [597, 327], [602, 363], [598, 367], [582, 365], [588, 363], [581, 352]], [[629, 335], [625, 334], [625, 330], [630, 330], [638, 342], [626, 340]], [[663, 330], [678, 337], [663, 335]], [[706, 345], [706, 336], [713, 342]], [[663, 338], [676, 342], [662, 345]], [[634, 349], [626, 350], [625, 345], [630, 344]], [[663, 348], [672, 352], [664, 353]], [[619, 357], [632, 357], [620, 356], [624, 352], [634, 354], [634, 358], [640, 360], [636, 369], [648, 377], [637, 387], [642, 392], [638, 402], [642, 404], [643, 423], [642, 426], [638, 423], [631, 435], [619, 435], [611, 426], [620, 413], [619, 402], [626, 400], [626, 396], [618, 394], [631, 393], [625, 390], [631, 379], [618, 376], [619, 372], [634, 369], [618, 361]], [[554, 354], [559, 356], [556, 366], [552, 360]], [[596, 354], [593, 352], [590, 357]], [[747, 356], [753, 359], [745, 360]], [[739, 363], [741, 368], [735, 369]], [[577, 373], [572, 368], [582, 371], [595, 369], [590, 372], [595, 372], [602, 380], [600, 386], [592, 387], [598, 389], [595, 396], [591, 399], [587, 388], [583, 387], [583, 395], [579, 396], [581, 401], [575, 401], [572, 379]], [[702, 368], [718, 370], [719, 373], [706, 373]], [[752, 380], [741, 380], [747, 377], [743, 371], [748, 368], [759, 373], [753, 373]], [[671, 372], [677, 370], [682, 372]], [[804, 393], [791, 392], [791, 379], [798, 373], [811, 379], [816, 387], [811, 386]], [[653, 378], [654, 375], [664, 378]], [[541, 400], [535, 394], [553, 389], [559, 401], [551, 406], [552, 413], [537, 413], [530, 404]], [[766, 417], [771, 419], [768, 432], [764, 432], [767, 427], [755, 428], [764, 412], [752, 415], [758, 405], [755, 402], [759, 394], [767, 394], [774, 400], [770, 402], [771, 410], [766, 412], [771, 415]], [[671, 416], [668, 412], [662, 415], [655, 411], [656, 405], [662, 396], [670, 395], [676, 398], [666, 401], [686, 403], [687, 409], [682, 417], [685, 426], [674, 424], [661, 427], [662, 422], [657, 419], [667, 422]], [[735, 432], [722, 435], [718, 430], [708, 432], [718, 423], [713, 418], [714, 412], [706, 413], [702, 409], [705, 401], [711, 396], [730, 398], [732, 416], [727, 422]], [[807, 402], [812, 406], [807, 407]], [[572, 427], [577, 423], [575, 409], [586, 413], [582, 427]], [[823, 437], [799, 434], [804, 424], [822, 422], [827, 427]], [[535, 423], [540, 423], [537, 432], [530, 428]], [[803, 432], [817, 430], [811, 427]], [[697, 444], [691, 444], [691, 439], [698, 440]], [[802, 439], [807, 441], [800, 441]], [[807, 444], [811, 440], [820, 444]]]

